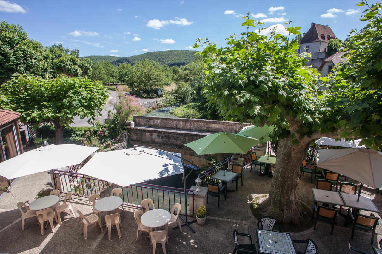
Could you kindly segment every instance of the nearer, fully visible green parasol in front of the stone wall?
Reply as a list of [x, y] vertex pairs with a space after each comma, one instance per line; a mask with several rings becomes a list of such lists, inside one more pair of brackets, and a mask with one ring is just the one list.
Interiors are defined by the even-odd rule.
[[185, 144], [197, 155], [215, 153], [243, 153], [259, 143], [256, 138], [230, 132], [217, 132]]

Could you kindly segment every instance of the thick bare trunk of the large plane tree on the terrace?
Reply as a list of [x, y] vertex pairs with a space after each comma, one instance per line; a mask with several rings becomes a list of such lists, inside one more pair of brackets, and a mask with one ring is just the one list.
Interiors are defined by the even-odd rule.
[[299, 169], [311, 144], [308, 140], [299, 140], [292, 145], [290, 138], [279, 140], [277, 159], [269, 190], [269, 198], [260, 208], [283, 223], [301, 223], [301, 205], [297, 195]]

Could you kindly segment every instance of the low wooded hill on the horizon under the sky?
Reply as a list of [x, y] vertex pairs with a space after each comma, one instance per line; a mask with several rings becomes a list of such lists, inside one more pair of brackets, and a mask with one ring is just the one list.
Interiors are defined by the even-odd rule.
[[147, 52], [137, 56], [117, 57], [117, 56], [84, 56], [83, 58], [89, 58], [92, 63], [99, 61], [108, 61], [114, 65], [121, 63], [134, 64], [144, 59], [154, 60], [162, 65], [167, 66], [181, 66], [188, 64], [195, 59], [196, 51], [194, 50], [167, 50], [167, 51], [154, 51]]

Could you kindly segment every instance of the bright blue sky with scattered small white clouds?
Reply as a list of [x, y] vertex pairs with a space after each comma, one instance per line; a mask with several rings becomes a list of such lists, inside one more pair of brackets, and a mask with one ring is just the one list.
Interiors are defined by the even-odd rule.
[[[230, 34], [243, 32], [242, 14], [250, 11], [266, 26], [284, 24], [308, 31], [311, 22], [329, 25], [344, 40], [361, 28], [359, 1], [84, 1], [0, 0], [0, 19], [20, 24], [45, 46], [62, 42], [81, 56], [139, 55], [147, 51], [183, 50], [197, 38], [219, 46]], [[375, 1], [371, 1], [375, 2]]]

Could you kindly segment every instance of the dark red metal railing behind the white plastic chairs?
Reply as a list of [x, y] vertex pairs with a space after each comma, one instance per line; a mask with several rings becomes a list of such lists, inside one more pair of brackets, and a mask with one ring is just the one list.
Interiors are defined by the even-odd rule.
[[[181, 214], [185, 215], [185, 191], [183, 188], [174, 188], [161, 185], [152, 185], [148, 183], [139, 183], [129, 187], [122, 187], [113, 183], [92, 178], [88, 175], [69, 172], [64, 170], [52, 170], [54, 175], [54, 186], [62, 193], [71, 192], [72, 195], [88, 198], [93, 194], [100, 195], [101, 198], [110, 196], [113, 188], [121, 188], [123, 190], [123, 204], [125, 206], [141, 208], [141, 201], [145, 198], [151, 198], [155, 204], [155, 208], [171, 211], [175, 203], [182, 204]], [[188, 204], [194, 206], [195, 196], [198, 195], [196, 190], [186, 190], [188, 195]], [[192, 202], [191, 202], [192, 200]], [[188, 215], [194, 217], [194, 207], [189, 209]]]

